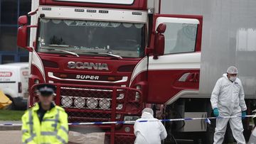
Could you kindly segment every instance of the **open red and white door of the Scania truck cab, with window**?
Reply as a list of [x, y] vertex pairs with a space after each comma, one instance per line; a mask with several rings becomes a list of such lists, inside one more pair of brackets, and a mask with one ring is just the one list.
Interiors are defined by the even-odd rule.
[[147, 102], [171, 104], [181, 96], [198, 93], [203, 17], [154, 15], [151, 44], [161, 23], [166, 25], [164, 55], [149, 56]]

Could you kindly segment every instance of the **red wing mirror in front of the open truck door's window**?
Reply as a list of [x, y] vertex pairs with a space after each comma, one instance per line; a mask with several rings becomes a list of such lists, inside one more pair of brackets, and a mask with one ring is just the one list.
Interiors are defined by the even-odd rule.
[[154, 59], [158, 59], [159, 55], [164, 55], [164, 33], [166, 31], [166, 24], [161, 23], [156, 28], [156, 35], [154, 38]]

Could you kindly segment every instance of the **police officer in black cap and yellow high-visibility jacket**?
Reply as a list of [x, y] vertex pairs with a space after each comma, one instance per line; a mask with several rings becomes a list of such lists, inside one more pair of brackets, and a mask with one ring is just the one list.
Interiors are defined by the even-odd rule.
[[39, 102], [22, 116], [22, 143], [68, 143], [68, 115], [53, 103], [55, 86], [40, 84]]

